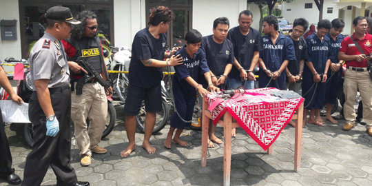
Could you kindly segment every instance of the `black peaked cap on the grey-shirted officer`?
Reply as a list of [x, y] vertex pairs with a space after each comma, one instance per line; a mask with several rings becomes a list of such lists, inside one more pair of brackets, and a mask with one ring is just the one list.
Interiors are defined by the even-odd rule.
[[52, 19], [56, 21], [65, 21], [72, 25], [79, 25], [81, 22], [77, 21], [72, 17], [70, 8], [63, 6], [53, 6], [45, 14], [46, 19]]

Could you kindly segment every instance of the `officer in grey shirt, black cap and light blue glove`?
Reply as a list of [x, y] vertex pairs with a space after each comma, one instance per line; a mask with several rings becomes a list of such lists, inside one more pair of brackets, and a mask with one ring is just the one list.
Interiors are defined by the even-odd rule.
[[30, 53], [33, 88], [29, 118], [33, 124], [34, 146], [28, 154], [22, 185], [40, 185], [49, 165], [57, 185], [90, 185], [77, 181], [70, 165], [70, 71], [61, 39], [70, 37], [73, 19], [69, 8], [54, 6], [45, 17], [45, 34]]

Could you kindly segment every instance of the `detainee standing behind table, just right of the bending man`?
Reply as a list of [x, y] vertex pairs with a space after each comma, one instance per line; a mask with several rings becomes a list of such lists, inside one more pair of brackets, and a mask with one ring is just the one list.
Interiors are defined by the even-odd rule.
[[[229, 30], [229, 19], [219, 17], [214, 20], [213, 34], [203, 37], [201, 46], [205, 50], [209, 72], [211, 73], [211, 81], [216, 87], [229, 89], [227, 75], [231, 71], [234, 64], [234, 48], [229, 39], [226, 39]], [[201, 79], [200, 81], [203, 81]], [[204, 87], [206, 85], [204, 81]], [[209, 123], [209, 139], [214, 143], [223, 143], [220, 138], [214, 136], [216, 126]], [[208, 147], [214, 147], [213, 143], [208, 143]]]

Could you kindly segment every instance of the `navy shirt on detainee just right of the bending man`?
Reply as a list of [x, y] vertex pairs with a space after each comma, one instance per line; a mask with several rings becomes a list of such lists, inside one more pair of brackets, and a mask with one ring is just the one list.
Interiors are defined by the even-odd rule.
[[205, 50], [209, 70], [216, 76], [223, 75], [228, 63], [234, 64], [234, 47], [229, 39], [216, 43], [213, 35], [203, 37], [202, 47]]

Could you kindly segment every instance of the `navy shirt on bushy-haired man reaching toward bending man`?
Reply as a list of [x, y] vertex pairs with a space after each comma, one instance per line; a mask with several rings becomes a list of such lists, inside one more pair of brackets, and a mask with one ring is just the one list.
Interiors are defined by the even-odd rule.
[[165, 44], [167, 36], [159, 34], [156, 39], [144, 28], [137, 32], [132, 43], [132, 58], [130, 59], [129, 82], [138, 87], [152, 87], [161, 82], [163, 78], [162, 68], [146, 67], [141, 60], [158, 59], [164, 60]]

